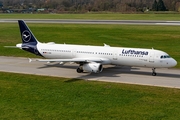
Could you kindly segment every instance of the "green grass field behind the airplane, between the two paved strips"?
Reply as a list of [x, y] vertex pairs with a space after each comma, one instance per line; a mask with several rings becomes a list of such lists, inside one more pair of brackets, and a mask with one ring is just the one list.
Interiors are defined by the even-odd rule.
[[[169, 53], [180, 63], [179, 26], [28, 24], [40, 42], [154, 48]], [[14, 46], [21, 42], [17, 24], [0, 24], [0, 55], [36, 57]], [[180, 68], [180, 64], [177, 65]]]

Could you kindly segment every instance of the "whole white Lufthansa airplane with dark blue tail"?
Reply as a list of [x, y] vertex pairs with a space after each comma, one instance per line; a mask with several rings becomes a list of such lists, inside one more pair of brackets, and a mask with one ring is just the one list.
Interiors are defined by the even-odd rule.
[[[67, 62], [77, 63], [77, 72], [100, 73], [103, 65], [119, 65], [152, 68], [152, 76], [156, 76], [156, 68], [170, 68], [177, 65], [177, 61], [166, 52], [155, 49], [127, 48], [56, 44], [54, 42], [39, 42], [23, 20], [18, 20], [22, 43], [15, 47], [44, 57], [39, 62]], [[30, 59], [31, 61], [31, 59]]]

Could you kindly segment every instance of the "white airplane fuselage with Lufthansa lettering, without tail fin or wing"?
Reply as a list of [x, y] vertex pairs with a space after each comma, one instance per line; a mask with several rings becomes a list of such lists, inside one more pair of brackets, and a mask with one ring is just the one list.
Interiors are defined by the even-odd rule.
[[102, 58], [108, 61], [101, 64], [150, 68], [168, 68], [177, 64], [167, 53], [154, 49], [55, 43], [38, 43], [37, 49], [48, 59]]

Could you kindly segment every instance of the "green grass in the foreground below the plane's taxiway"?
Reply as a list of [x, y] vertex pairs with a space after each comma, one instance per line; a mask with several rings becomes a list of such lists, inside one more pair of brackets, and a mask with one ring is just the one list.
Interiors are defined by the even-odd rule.
[[0, 119], [180, 118], [180, 90], [0, 72]]

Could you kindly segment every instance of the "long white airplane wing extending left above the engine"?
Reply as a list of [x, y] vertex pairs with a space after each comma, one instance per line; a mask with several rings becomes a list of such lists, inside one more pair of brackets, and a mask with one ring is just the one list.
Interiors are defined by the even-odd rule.
[[97, 62], [102, 64], [110, 64], [111, 61], [107, 58], [73, 58], [73, 59], [37, 59], [39, 62], [76, 62], [76, 63], [89, 63]]

